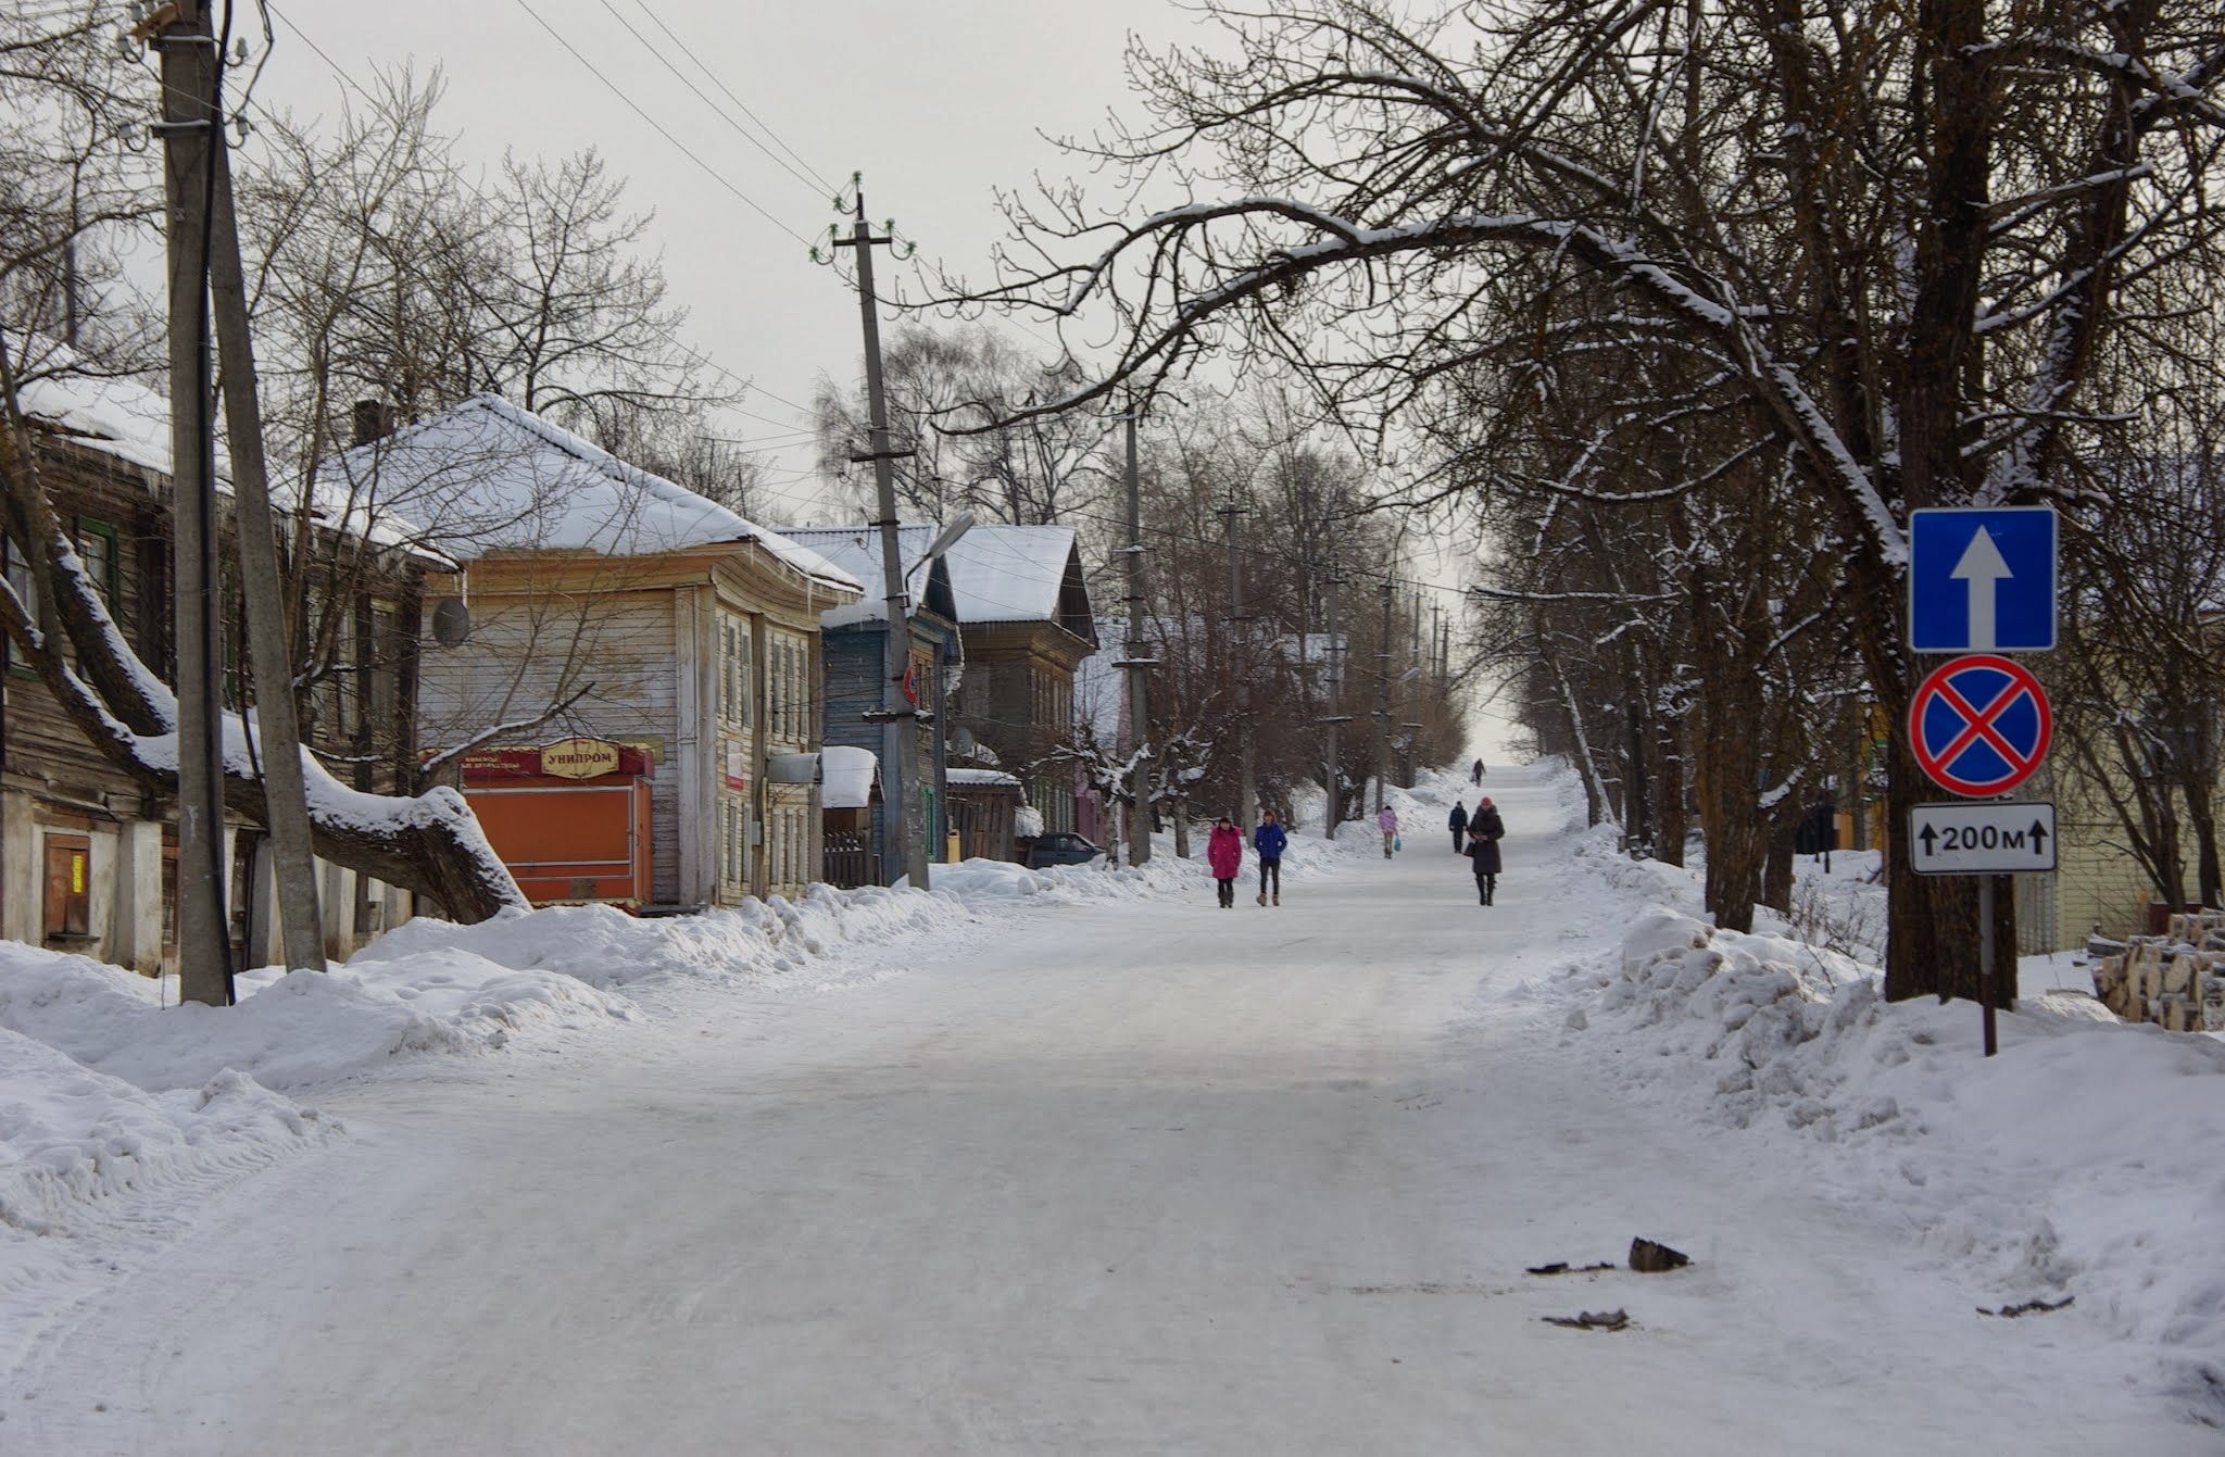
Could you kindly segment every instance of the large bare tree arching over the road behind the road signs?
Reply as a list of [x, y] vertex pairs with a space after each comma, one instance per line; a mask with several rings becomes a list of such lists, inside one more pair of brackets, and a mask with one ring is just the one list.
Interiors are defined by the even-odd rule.
[[[1767, 440], [1838, 536], [1896, 721], [1905, 512], [2056, 494], [2127, 309], [2212, 240], [2225, 40], [2194, 0], [1202, 9], [1233, 56], [1133, 51], [1146, 120], [1077, 145], [1110, 209], [1015, 198], [1003, 276], [934, 300], [1119, 329], [1039, 412], [1242, 340], [1384, 432], [1540, 334], [1658, 340], [1740, 427], [1691, 478]], [[1918, 785], [1896, 741], [1896, 821]], [[1971, 888], [1898, 839], [1887, 874], [1887, 994], [1974, 994]]]

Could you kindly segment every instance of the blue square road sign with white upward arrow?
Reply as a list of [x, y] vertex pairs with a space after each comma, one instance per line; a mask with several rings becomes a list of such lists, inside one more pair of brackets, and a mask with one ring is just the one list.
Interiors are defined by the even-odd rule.
[[1909, 645], [1916, 652], [2054, 647], [2054, 507], [1911, 512]]

